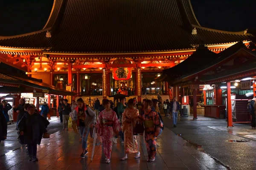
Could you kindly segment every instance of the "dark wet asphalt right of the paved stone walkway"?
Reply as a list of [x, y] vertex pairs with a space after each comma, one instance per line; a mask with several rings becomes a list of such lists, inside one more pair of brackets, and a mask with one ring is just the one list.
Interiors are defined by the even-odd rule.
[[[166, 128], [179, 134], [183, 139], [201, 146], [205, 153], [230, 169], [256, 169], [256, 141], [252, 137], [256, 130], [251, 130], [250, 125], [234, 123], [235, 127], [227, 128], [227, 122], [221, 119], [190, 121], [187, 118], [179, 118], [177, 127], [173, 127], [171, 117], [163, 119]], [[249, 137], [249, 142], [229, 142], [229, 140], [247, 140]]]

